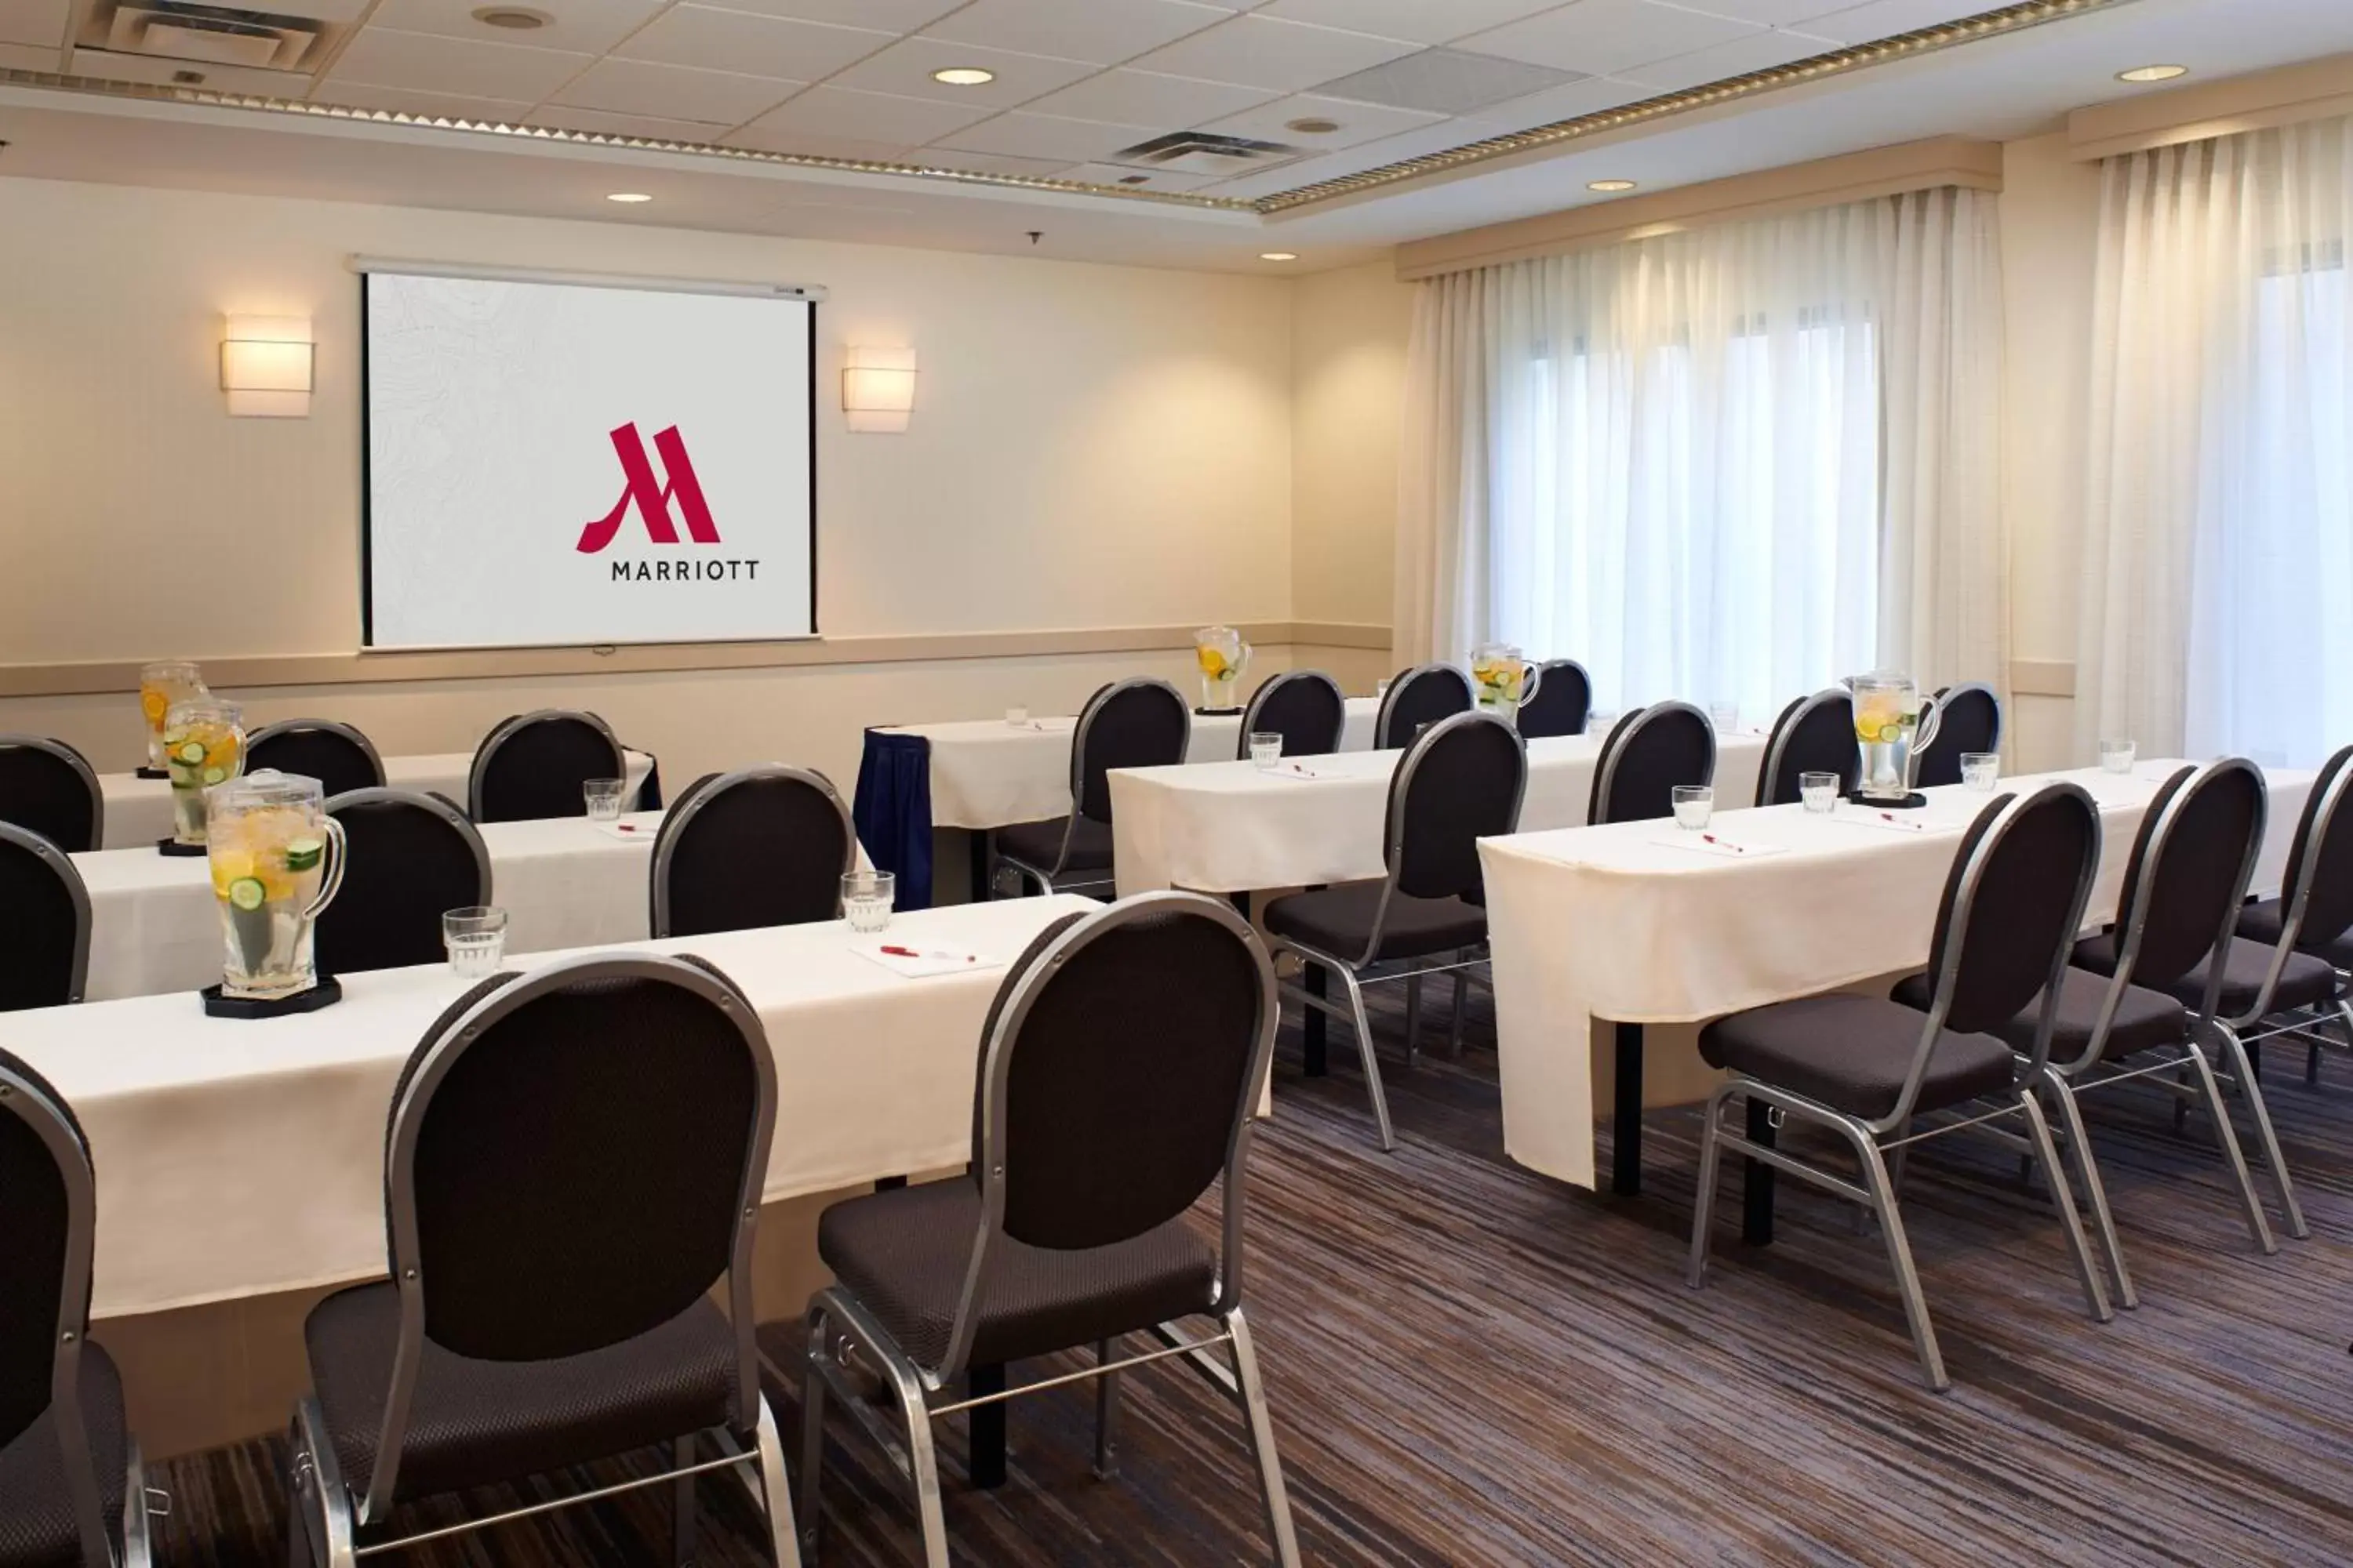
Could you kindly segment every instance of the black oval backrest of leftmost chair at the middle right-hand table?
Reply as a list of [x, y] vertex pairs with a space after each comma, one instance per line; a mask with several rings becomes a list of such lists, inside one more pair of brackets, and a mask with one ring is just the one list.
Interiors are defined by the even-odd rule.
[[1388, 776], [1384, 860], [1398, 891], [1454, 898], [1480, 886], [1478, 842], [1513, 832], [1527, 797], [1527, 743], [1492, 712], [1440, 719]]

